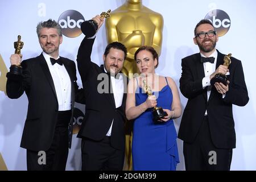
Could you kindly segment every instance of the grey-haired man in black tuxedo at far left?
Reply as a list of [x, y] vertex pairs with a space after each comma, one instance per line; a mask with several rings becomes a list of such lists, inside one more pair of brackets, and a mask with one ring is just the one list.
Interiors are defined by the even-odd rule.
[[27, 169], [65, 170], [74, 102], [75, 98], [83, 101], [83, 90], [79, 91], [76, 83], [75, 62], [59, 56], [63, 40], [59, 24], [51, 19], [40, 22], [36, 32], [43, 52], [22, 62], [22, 55], [11, 55], [11, 65], [21, 63], [22, 76], [7, 73], [6, 92], [9, 98], [27, 94], [27, 119], [20, 144], [27, 149]]

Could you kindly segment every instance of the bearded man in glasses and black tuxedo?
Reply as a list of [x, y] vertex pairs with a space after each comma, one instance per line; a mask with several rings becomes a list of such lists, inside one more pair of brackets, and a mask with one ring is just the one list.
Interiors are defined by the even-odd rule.
[[[201, 20], [195, 27], [194, 43], [200, 53], [182, 59], [180, 91], [188, 98], [178, 137], [184, 141], [187, 170], [229, 170], [236, 133], [232, 105], [245, 106], [249, 101], [240, 60], [230, 57], [229, 68], [216, 50], [218, 35], [213, 24]], [[210, 80], [223, 73], [228, 84]]]

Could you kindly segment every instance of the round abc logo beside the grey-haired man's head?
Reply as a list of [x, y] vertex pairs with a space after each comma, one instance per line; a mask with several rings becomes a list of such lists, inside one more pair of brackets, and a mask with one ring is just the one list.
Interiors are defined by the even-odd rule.
[[60, 15], [58, 22], [62, 28], [63, 35], [69, 38], [76, 38], [82, 33], [80, 26], [84, 22], [84, 16], [78, 11], [67, 10]]

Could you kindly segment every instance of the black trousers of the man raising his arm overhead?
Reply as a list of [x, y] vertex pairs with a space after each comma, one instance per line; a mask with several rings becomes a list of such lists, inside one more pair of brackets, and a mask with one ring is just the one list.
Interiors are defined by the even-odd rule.
[[113, 148], [110, 137], [101, 141], [82, 138], [82, 171], [121, 171], [125, 160], [125, 150]]

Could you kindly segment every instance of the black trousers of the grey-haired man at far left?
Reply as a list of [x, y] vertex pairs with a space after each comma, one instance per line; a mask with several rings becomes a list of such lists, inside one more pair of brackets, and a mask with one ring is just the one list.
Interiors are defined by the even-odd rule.
[[71, 110], [58, 111], [51, 147], [47, 151], [27, 150], [28, 171], [65, 171], [68, 159], [68, 123]]

